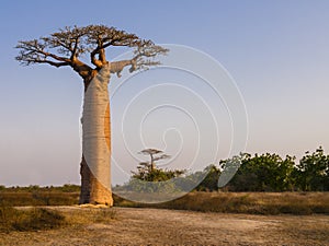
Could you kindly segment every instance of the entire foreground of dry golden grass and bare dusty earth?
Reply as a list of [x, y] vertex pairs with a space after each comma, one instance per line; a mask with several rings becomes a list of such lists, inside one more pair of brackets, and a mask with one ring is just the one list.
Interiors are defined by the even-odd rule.
[[[111, 209], [71, 204], [77, 194], [61, 201], [58, 192], [7, 195], [0, 194], [5, 246], [329, 245], [328, 192], [192, 192], [161, 204], [115, 197]], [[65, 200], [70, 206], [58, 206]]]

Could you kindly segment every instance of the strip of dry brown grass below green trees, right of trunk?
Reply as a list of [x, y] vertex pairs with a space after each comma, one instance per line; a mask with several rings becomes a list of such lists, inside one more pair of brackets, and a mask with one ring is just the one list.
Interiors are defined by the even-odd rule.
[[137, 203], [115, 197], [122, 207], [248, 214], [329, 214], [329, 192], [191, 192], [158, 203]]

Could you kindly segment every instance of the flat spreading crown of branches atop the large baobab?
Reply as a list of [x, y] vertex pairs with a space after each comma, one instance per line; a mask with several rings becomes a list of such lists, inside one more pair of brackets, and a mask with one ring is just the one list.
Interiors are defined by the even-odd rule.
[[[65, 27], [49, 36], [33, 40], [21, 40], [16, 60], [22, 65], [48, 63], [55, 67], [70, 66], [84, 80], [93, 69], [100, 69], [107, 63], [105, 49], [111, 46], [125, 46], [134, 49], [131, 60], [111, 62], [111, 73], [117, 73], [126, 66], [129, 71], [147, 69], [158, 65], [154, 58], [168, 50], [155, 45], [151, 40], [141, 39], [135, 34], [126, 33], [113, 26], [88, 25], [86, 27]], [[80, 60], [82, 55], [90, 55], [91, 66]]]

